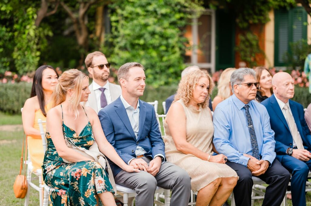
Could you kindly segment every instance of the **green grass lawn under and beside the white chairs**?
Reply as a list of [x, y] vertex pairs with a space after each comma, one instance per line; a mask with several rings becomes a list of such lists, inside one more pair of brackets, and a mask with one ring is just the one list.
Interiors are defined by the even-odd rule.
[[[0, 125], [18, 125], [21, 124], [21, 116], [9, 116], [0, 112]], [[17, 128], [17, 127], [16, 127]], [[20, 128], [20, 127], [19, 127]], [[9, 131], [0, 129], [0, 205], [2, 206], [22, 206], [25, 199], [16, 199], [13, 193], [13, 183], [16, 175], [19, 173], [21, 146], [23, 140], [23, 131], [10, 129]], [[38, 184], [38, 181], [34, 181]], [[307, 206], [311, 206], [311, 192], [307, 195]], [[230, 202], [230, 200], [229, 200]], [[33, 188], [30, 189], [29, 206], [39, 205], [39, 192]], [[262, 200], [255, 200], [255, 206], [262, 205]], [[291, 206], [291, 201], [287, 201]]]

